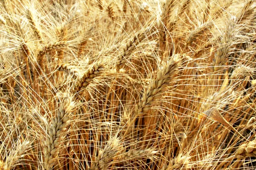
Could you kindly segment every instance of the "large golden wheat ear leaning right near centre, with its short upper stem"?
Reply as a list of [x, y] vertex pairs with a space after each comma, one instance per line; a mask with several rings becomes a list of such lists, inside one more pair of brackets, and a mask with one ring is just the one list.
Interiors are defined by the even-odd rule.
[[180, 56], [175, 55], [170, 61], [166, 63], [158, 72], [157, 77], [153, 79], [148, 86], [148, 88], [143, 93], [140, 102], [135, 107], [134, 118], [132, 119], [131, 123], [129, 124], [127, 130], [125, 131], [124, 136], [130, 130], [132, 124], [135, 122], [137, 117], [143, 116], [147, 113], [153, 102], [161, 97], [161, 94], [165, 90], [166, 85], [171, 81], [172, 75], [176, 73], [176, 69], [180, 64]]

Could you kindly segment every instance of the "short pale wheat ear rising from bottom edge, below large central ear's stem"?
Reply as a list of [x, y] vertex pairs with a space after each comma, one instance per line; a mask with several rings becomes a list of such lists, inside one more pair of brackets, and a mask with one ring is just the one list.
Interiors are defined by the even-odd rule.
[[109, 139], [104, 149], [100, 149], [95, 161], [91, 163], [90, 170], [105, 170], [111, 166], [113, 157], [119, 152], [120, 140], [115, 136]]

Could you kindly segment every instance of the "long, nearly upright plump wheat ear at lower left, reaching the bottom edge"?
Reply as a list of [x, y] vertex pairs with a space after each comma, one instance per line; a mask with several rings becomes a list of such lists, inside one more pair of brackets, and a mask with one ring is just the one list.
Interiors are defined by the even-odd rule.
[[48, 134], [44, 148], [44, 168], [46, 170], [52, 170], [53, 166], [56, 164], [64, 134], [70, 127], [74, 107], [75, 103], [72, 102], [71, 97], [64, 99], [57, 109], [55, 117], [52, 118], [52, 122], [50, 122], [47, 127]]

